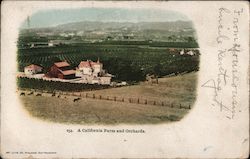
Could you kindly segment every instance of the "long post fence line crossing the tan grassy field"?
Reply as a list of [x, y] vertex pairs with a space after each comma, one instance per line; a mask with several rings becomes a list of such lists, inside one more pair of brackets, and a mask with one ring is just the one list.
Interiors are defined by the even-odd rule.
[[[138, 98], [138, 97], [121, 97], [121, 96], [111, 96], [111, 95], [104, 95], [104, 94], [95, 94], [95, 93], [80, 93], [80, 92], [51, 92], [51, 91], [44, 91], [44, 90], [35, 90], [35, 89], [20, 89], [21, 95], [35, 95], [35, 96], [42, 96], [43, 93], [50, 94], [51, 96], [61, 97], [61, 96], [74, 96], [77, 98], [90, 98], [95, 100], [106, 100], [106, 101], [114, 101], [114, 102], [122, 102], [122, 103], [131, 103], [131, 104], [143, 104], [143, 105], [155, 105], [155, 106], [167, 106], [170, 108], [179, 108], [179, 109], [191, 109], [191, 105], [183, 105], [181, 103], [174, 103], [174, 102], [167, 102], [162, 100], [150, 100], [145, 98]], [[23, 91], [28, 91], [24, 93]], [[73, 100], [74, 102], [77, 101], [76, 99]]]

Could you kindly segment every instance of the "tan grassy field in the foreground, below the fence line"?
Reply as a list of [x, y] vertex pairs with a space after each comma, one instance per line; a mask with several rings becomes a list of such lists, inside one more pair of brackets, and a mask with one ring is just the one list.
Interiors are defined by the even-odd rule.
[[69, 124], [154, 124], [178, 121], [187, 109], [95, 101], [83, 98], [21, 97], [25, 108], [34, 117]]

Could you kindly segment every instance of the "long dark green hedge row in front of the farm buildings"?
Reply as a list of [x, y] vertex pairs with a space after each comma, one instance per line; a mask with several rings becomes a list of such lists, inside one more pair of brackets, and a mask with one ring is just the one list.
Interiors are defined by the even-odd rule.
[[98, 84], [83, 84], [83, 83], [68, 83], [59, 81], [45, 81], [42, 79], [33, 79], [26, 77], [17, 78], [19, 88], [54, 91], [83, 91], [83, 90], [98, 90], [105, 89], [111, 86]]

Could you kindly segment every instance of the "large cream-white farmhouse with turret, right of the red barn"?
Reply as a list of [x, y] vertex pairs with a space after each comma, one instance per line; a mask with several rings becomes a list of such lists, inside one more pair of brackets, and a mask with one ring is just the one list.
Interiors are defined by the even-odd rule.
[[76, 77], [81, 77], [85, 83], [110, 84], [113, 75], [103, 69], [103, 64], [99, 59], [97, 62], [82, 61], [76, 68]]

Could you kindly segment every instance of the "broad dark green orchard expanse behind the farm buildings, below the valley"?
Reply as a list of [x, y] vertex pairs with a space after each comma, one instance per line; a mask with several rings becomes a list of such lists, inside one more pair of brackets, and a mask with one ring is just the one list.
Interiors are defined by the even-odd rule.
[[[171, 73], [199, 70], [199, 51], [195, 56], [179, 55], [181, 48], [196, 48], [190, 42], [104, 41], [100, 43], [74, 43], [55, 47], [19, 48], [18, 69], [29, 64], [41, 65], [47, 70], [54, 62], [69, 62], [74, 69], [83, 60], [100, 58], [107, 72], [117, 81], [143, 81], [147, 74], [159, 77]], [[153, 47], [151, 47], [153, 46]], [[170, 49], [176, 47], [179, 49]]]

